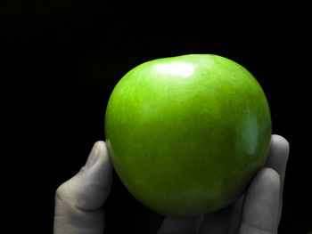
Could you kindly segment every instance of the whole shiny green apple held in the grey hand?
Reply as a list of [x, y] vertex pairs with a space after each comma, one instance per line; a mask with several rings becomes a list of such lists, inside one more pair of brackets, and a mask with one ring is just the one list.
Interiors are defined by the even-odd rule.
[[173, 216], [212, 213], [239, 198], [265, 164], [272, 134], [257, 80], [214, 54], [131, 69], [111, 93], [104, 125], [127, 190]]

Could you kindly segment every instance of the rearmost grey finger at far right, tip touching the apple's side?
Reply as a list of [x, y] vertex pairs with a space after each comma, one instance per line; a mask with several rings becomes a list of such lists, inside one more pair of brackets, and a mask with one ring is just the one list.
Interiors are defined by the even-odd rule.
[[273, 134], [271, 138], [270, 150], [267, 157], [266, 167], [271, 167], [280, 175], [281, 190], [279, 204], [279, 219], [283, 207], [283, 183], [285, 178], [286, 165], [289, 156], [289, 142], [283, 136]]

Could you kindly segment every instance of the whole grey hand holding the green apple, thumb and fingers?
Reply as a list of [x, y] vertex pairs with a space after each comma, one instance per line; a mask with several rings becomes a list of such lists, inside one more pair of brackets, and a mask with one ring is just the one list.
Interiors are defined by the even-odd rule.
[[[267, 165], [242, 198], [213, 214], [165, 217], [159, 234], [277, 233], [288, 153], [288, 142], [272, 135]], [[100, 207], [110, 193], [111, 182], [109, 153], [105, 142], [98, 141], [86, 165], [56, 191], [54, 234], [103, 233], [104, 213]]]

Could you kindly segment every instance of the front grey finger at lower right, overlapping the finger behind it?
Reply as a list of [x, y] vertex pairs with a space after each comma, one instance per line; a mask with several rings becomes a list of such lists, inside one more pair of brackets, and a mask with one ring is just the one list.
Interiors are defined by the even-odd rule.
[[277, 233], [280, 178], [274, 169], [259, 171], [246, 192], [240, 234]]

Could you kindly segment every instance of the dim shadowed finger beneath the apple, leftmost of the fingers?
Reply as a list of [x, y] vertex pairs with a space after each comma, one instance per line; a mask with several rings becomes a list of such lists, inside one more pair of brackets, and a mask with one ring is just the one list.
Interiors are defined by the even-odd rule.
[[158, 234], [195, 234], [201, 224], [202, 216], [166, 216]]

